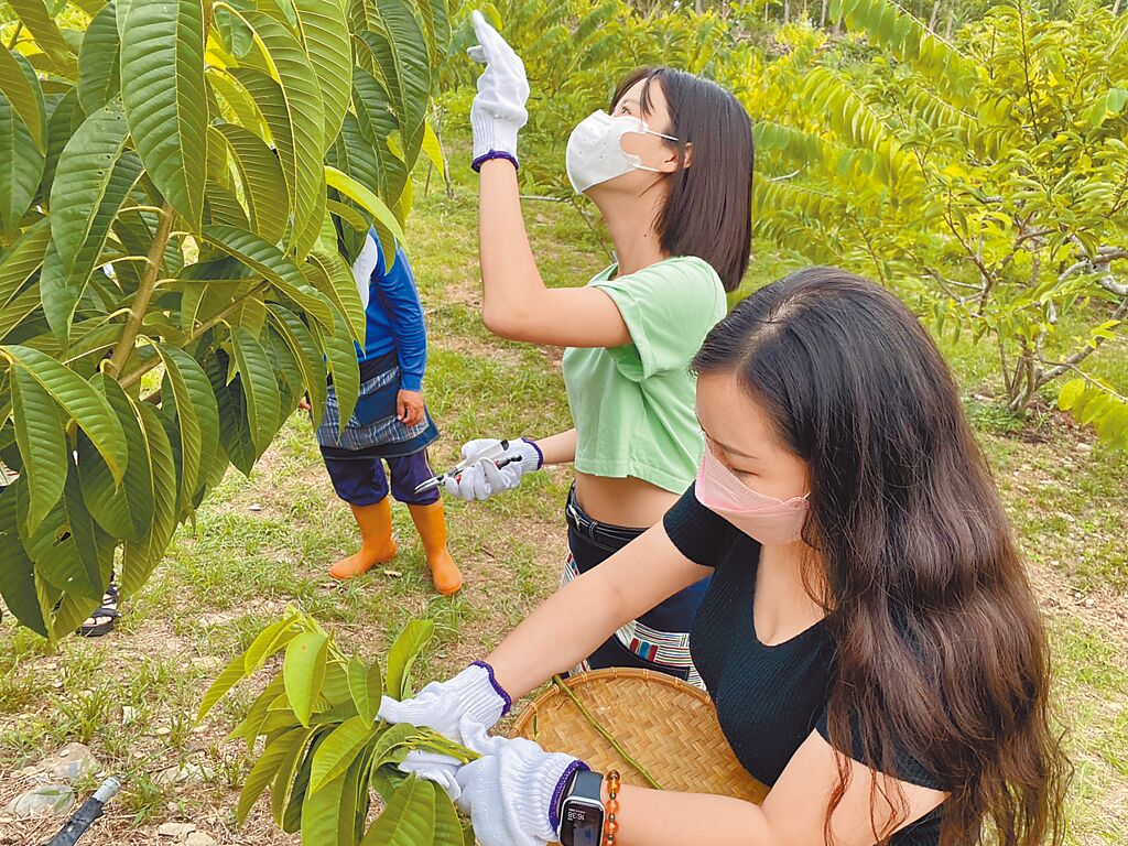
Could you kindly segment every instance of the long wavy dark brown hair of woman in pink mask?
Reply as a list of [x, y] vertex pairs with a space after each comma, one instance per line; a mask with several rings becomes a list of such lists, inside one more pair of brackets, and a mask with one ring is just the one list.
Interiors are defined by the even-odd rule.
[[[1005, 846], [1060, 843], [1070, 769], [1050, 726], [1042, 620], [919, 321], [879, 285], [813, 267], [738, 305], [695, 369], [733, 374], [809, 468], [804, 575], [838, 647], [835, 747], [896, 773], [898, 739], [950, 790], [944, 844], [979, 843], [985, 823]], [[848, 772], [839, 757], [828, 838]], [[905, 797], [878, 781], [896, 827]]]

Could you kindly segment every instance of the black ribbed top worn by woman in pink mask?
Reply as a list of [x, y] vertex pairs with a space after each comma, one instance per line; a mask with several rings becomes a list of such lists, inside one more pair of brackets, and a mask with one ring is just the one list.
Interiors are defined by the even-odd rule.
[[[689, 629], [694, 664], [716, 705], [737, 759], [770, 786], [812, 731], [830, 742], [827, 703], [836, 649], [823, 620], [790, 641], [767, 646], [756, 636], [752, 599], [760, 545], [699, 502], [691, 486], [663, 520], [678, 550], [713, 579]], [[860, 750], [843, 750], [855, 760]], [[900, 781], [934, 790], [941, 782], [898, 750]], [[940, 808], [893, 835], [893, 846], [937, 846]]]

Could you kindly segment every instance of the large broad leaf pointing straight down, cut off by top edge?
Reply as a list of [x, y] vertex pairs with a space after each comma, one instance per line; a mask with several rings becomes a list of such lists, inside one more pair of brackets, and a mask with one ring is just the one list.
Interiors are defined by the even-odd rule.
[[118, 5], [117, 20], [133, 143], [165, 200], [199, 231], [208, 160], [203, 6], [131, 2]]

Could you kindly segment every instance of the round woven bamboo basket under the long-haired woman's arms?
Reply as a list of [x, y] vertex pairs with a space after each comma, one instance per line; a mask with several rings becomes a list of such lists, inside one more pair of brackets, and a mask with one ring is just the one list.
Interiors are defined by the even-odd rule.
[[[664, 673], [627, 668], [594, 670], [564, 684], [662, 790], [757, 803], [767, 795], [767, 787], [733, 755], [705, 691]], [[535, 740], [546, 751], [574, 755], [596, 772], [618, 769], [627, 784], [646, 785], [555, 685], [521, 712], [511, 737]]]

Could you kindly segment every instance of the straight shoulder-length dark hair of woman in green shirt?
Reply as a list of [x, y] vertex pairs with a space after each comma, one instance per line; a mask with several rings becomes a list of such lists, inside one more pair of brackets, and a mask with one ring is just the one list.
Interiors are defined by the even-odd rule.
[[[611, 98], [645, 80], [640, 106], [652, 112], [650, 87], [661, 86], [670, 108], [666, 134], [677, 141], [678, 169], [669, 175], [670, 196], [656, 221], [670, 255], [697, 256], [713, 265], [724, 290], [734, 291], [748, 268], [752, 245], [752, 122], [735, 97], [715, 82], [672, 68], [642, 68], [624, 79]], [[691, 146], [689, 166], [686, 149]]]

